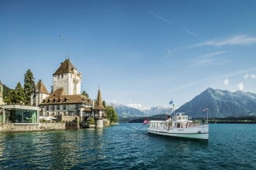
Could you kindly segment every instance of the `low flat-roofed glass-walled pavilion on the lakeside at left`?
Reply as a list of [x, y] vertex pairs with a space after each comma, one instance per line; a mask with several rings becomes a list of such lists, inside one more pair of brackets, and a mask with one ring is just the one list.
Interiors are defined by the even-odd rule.
[[0, 124], [39, 124], [39, 107], [21, 105], [0, 106]]

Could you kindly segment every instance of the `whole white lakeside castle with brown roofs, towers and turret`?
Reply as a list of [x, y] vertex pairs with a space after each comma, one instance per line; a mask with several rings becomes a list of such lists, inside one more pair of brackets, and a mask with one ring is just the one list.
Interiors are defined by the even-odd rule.
[[70, 59], [65, 59], [54, 72], [52, 93], [48, 92], [42, 80], [38, 81], [31, 104], [40, 107], [40, 116], [78, 116], [81, 121], [87, 117], [106, 117], [101, 91], [98, 91], [95, 102], [81, 94], [81, 73]]

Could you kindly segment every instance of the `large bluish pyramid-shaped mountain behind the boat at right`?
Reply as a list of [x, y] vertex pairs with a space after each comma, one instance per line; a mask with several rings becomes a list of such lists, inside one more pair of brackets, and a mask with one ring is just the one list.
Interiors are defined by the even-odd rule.
[[185, 112], [191, 117], [242, 117], [256, 115], [256, 94], [251, 92], [207, 88], [192, 100], [179, 107], [177, 112]]

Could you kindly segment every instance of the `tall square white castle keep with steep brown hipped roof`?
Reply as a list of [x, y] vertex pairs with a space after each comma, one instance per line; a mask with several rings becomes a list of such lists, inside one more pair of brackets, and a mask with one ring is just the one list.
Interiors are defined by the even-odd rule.
[[53, 91], [63, 88], [67, 95], [81, 94], [81, 73], [73, 66], [69, 59], [53, 74]]

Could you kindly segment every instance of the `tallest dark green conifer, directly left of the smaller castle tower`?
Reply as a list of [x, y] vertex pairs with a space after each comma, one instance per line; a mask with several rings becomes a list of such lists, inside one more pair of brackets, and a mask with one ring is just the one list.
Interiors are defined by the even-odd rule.
[[35, 79], [31, 70], [27, 70], [24, 76], [25, 104], [30, 105], [31, 94], [36, 90]]

